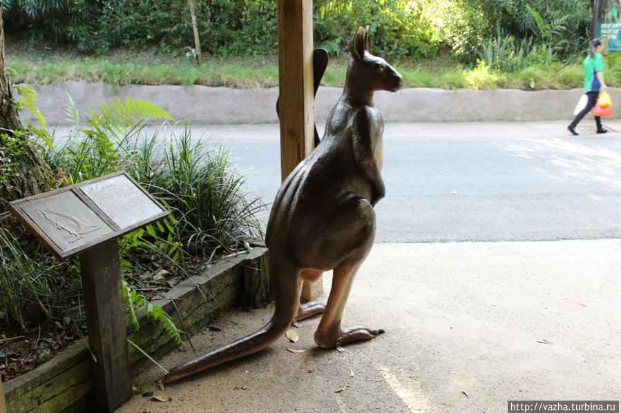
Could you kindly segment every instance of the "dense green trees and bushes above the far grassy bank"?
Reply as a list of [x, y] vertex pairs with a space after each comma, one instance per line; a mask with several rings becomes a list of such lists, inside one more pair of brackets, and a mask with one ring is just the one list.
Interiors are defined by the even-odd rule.
[[[276, 50], [276, 1], [194, 4], [204, 51]], [[164, 54], [184, 54], [193, 45], [187, 0], [4, 0], [2, 6], [7, 30], [33, 41], [55, 39], [88, 52], [152, 47]], [[332, 54], [347, 48], [356, 26], [368, 25], [374, 51], [391, 59], [419, 61], [448, 49], [470, 67], [490, 42], [524, 56], [545, 45], [555, 59], [568, 59], [585, 49], [592, 16], [591, 0], [315, 0], [313, 8], [316, 46]]]

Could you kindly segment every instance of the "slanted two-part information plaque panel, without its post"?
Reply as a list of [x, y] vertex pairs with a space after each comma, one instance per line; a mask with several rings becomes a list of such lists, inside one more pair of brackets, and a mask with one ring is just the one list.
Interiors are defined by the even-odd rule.
[[9, 203], [58, 259], [65, 259], [169, 214], [126, 172]]

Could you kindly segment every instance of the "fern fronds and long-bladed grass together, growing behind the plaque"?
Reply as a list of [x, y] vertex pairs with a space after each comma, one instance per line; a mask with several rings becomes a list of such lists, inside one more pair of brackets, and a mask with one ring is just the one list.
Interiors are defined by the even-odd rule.
[[[115, 104], [108, 108], [102, 103], [99, 112], [91, 111], [91, 128], [85, 130], [71, 102], [68, 119], [74, 125], [70, 137], [57, 139], [60, 145], [55, 137], [44, 137], [44, 159], [52, 170], [62, 171], [69, 184], [125, 170], [167, 205], [173, 216], [171, 232], [178, 237], [175, 242], [194, 256], [211, 256], [214, 250], [260, 238], [260, 222], [255, 214], [265, 205], [260, 199], [247, 199], [243, 192], [245, 179], [229, 167], [227, 150], [194, 141], [187, 124], [178, 132], [175, 128], [159, 128], [147, 134], [144, 121], [106, 123], [111, 116], [128, 119], [131, 114], [150, 113], [146, 108], [151, 108], [143, 103], [145, 109], [140, 112], [140, 101], [136, 109], [131, 101], [125, 105], [113, 101]], [[153, 111], [161, 117], [167, 115]], [[116, 112], [121, 115], [115, 116]], [[166, 131], [170, 135], [162, 137]]]

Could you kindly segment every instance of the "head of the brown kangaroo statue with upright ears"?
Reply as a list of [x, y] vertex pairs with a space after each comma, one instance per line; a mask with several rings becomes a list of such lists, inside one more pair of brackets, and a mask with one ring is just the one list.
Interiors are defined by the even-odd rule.
[[403, 86], [403, 77], [384, 59], [372, 55], [369, 46], [369, 29], [359, 27], [350, 40], [352, 59], [347, 66], [345, 92], [354, 100], [372, 103], [369, 99], [374, 91], [397, 92]]

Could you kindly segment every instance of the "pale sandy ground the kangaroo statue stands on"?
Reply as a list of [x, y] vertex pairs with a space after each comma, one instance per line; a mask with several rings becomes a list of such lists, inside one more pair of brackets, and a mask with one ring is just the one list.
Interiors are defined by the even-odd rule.
[[[283, 337], [166, 387], [153, 366], [117, 412], [480, 413], [506, 411], [508, 400], [618, 400], [619, 268], [617, 239], [376, 244], [344, 325], [385, 334], [321, 350], [318, 319], [303, 321], [297, 343]], [[202, 354], [270, 316], [271, 308], [230, 312], [193, 344]], [[160, 363], [191, 358], [175, 351]]]

